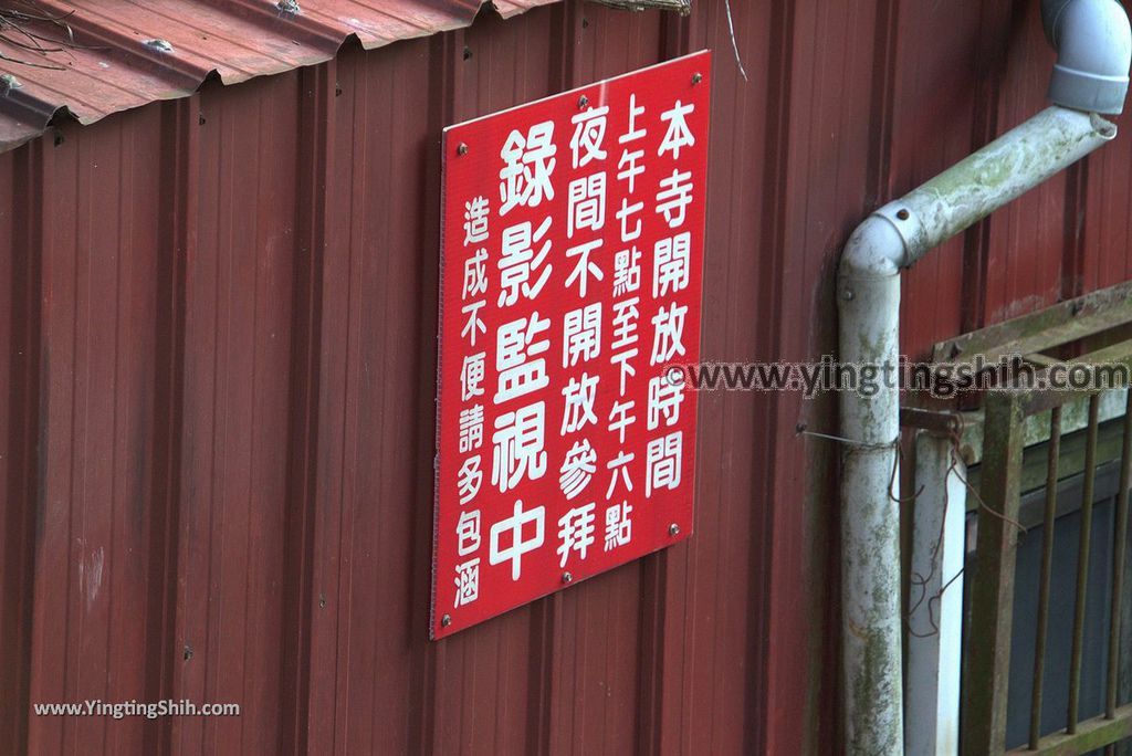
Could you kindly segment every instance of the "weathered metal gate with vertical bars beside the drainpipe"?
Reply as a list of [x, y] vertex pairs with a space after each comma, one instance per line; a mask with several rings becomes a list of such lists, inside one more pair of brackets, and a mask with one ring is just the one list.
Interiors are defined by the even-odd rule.
[[[981, 412], [975, 415], [981, 420], [981, 433], [979, 429], [970, 433], [980, 436], [981, 463], [978, 486], [970, 486], [968, 496], [977, 536], [968, 561], [963, 612], [960, 728], [964, 754], [1002, 754], [1007, 748], [1014, 748], [1009, 753], [1040, 754], [1101, 748], [1106, 754], [1123, 754], [1132, 749], [1132, 569], [1126, 556], [1132, 393], [1095, 388], [1104, 383], [1099, 370], [1112, 372], [1114, 367], [1132, 366], [1130, 324], [1132, 285], [1122, 284], [936, 347], [937, 364], [976, 358], [992, 364], [1020, 355], [1029, 369], [1024, 386], [1014, 383], [983, 395]], [[1055, 366], [1062, 370], [1071, 367], [1077, 383], [1091, 388], [1049, 385]], [[916, 423], [914, 418], [912, 424], [923, 426], [923, 418], [920, 421]], [[1099, 441], [1103, 429], [1105, 444]], [[971, 449], [966, 452], [970, 455]], [[1100, 497], [1106, 508], [1104, 527], [1098, 527], [1098, 467], [1106, 459], [1110, 459], [1107, 465], [1118, 482]], [[1075, 488], [1065, 487], [1070, 479]], [[1023, 517], [1020, 507], [1027, 491], [1034, 510]], [[1071, 521], [1065, 518], [1070, 512]], [[1066, 545], [1074, 547], [1058, 539], [1075, 541], [1075, 552], [1061, 565], [1062, 570], [1073, 572], [1071, 581], [1057, 570], [1054, 547], [1057, 543], [1062, 555]], [[1015, 579], [1023, 543], [1032, 550], [1040, 543], [1036, 598], [1021, 595]], [[1098, 579], [1105, 591], [1090, 585]], [[1072, 587], [1052, 596], [1055, 583]], [[1067, 615], [1072, 616], [1067, 647], [1050, 646], [1052, 613], [1063, 627]], [[1019, 635], [1015, 622], [1032, 622], [1032, 628], [1021, 628], [1034, 634], [1029, 659], [1011, 659], [1012, 651], [1019, 652], [1012, 648]], [[1082, 706], [1087, 652], [1092, 711]], [[1032, 669], [1023, 744], [1018, 742], [1018, 734], [1007, 739], [1012, 661], [1015, 679], [1020, 665], [1027, 681]], [[1044, 710], [1044, 697], [1052, 693], [1057, 694], [1055, 699], [1066, 702], [1063, 716], [1058, 711], [1050, 718], [1049, 705]], [[1015, 733], [1022, 729], [1019, 718], [1015, 705]], [[1050, 719], [1055, 720], [1053, 727]]]

